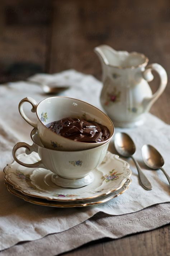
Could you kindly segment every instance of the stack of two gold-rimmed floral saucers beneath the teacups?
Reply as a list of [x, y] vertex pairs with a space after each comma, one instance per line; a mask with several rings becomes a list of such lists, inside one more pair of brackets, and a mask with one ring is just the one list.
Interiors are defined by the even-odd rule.
[[[20, 154], [21, 161], [37, 158]], [[37, 160], [39, 160], [37, 158]], [[15, 161], [4, 168], [8, 190], [25, 201], [53, 207], [80, 207], [107, 202], [121, 195], [131, 184], [129, 164], [118, 155], [107, 152], [103, 162], [93, 171], [94, 181], [81, 188], [63, 188], [51, 181], [52, 172], [43, 168], [23, 167]]]

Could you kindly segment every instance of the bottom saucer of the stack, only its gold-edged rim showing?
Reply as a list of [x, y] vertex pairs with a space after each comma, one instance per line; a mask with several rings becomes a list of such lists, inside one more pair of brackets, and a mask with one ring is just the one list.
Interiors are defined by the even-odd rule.
[[45, 199], [39, 199], [39, 198], [27, 196], [25, 194], [22, 194], [18, 190], [15, 190], [13, 188], [13, 186], [11, 186], [9, 183], [5, 183], [5, 185], [7, 186], [8, 191], [11, 194], [23, 199], [24, 201], [29, 202], [29, 203], [36, 204], [36, 205], [41, 205], [41, 206], [71, 208], [71, 207], [85, 207], [85, 206], [105, 203], [105, 202], [123, 194], [128, 189], [131, 182], [132, 182], [131, 179], [127, 180], [119, 190], [117, 190], [117, 191], [115, 191], [115, 192], [113, 192], [109, 195], [101, 196], [101, 197], [98, 197], [96, 199], [89, 199], [89, 200], [85, 200], [85, 201], [71, 201], [71, 202], [68, 202], [68, 201], [65, 201], [65, 202], [49, 201], [49, 200], [45, 200]]

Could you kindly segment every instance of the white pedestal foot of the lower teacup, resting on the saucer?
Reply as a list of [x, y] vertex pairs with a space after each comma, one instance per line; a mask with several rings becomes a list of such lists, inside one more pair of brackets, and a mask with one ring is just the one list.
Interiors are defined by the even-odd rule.
[[80, 179], [66, 179], [58, 176], [57, 174], [53, 174], [51, 176], [51, 181], [60, 187], [78, 188], [87, 186], [93, 182], [94, 174], [90, 172], [88, 175]]

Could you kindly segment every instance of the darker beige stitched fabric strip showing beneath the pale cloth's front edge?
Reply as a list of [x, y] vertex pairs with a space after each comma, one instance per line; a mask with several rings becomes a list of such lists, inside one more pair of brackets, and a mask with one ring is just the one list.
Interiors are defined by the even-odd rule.
[[154, 205], [136, 213], [110, 216], [98, 213], [67, 231], [16, 245], [2, 256], [58, 255], [101, 238], [121, 238], [128, 234], [149, 231], [170, 222], [170, 203]]

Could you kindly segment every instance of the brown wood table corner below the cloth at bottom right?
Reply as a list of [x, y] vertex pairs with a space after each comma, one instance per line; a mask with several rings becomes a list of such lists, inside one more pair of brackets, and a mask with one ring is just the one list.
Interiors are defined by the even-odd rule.
[[[109, 239], [110, 240], [110, 239]], [[170, 225], [121, 239], [84, 245], [64, 256], [170, 256]]]

